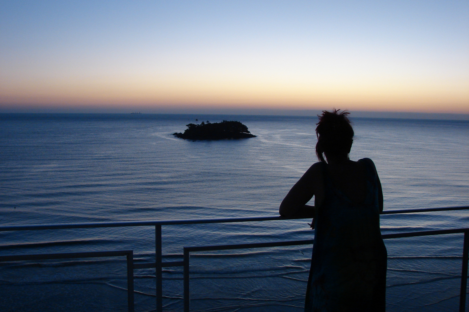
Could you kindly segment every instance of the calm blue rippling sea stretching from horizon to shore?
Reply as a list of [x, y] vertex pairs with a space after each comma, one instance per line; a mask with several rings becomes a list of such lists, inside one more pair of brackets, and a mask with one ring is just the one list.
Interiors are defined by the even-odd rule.
[[[350, 159], [378, 169], [385, 209], [469, 205], [469, 122], [353, 118]], [[237, 120], [257, 137], [187, 141], [189, 122]], [[278, 214], [317, 161], [317, 117], [0, 114], [0, 225]], [[163, 227], [182, 246], [311, 239], [310, 220]], [[383, 215], [383, 234], [469, 227], [467, 211]], [[154, 261], [154, 228], [0, 232], [0, 255], [133, 250]], [[388, 239], [387, 311], [456, 311], [462, 235]], [[191, 255], [192, 311], [303, 311], [311, 246]], [[136, 270], [136, 311], [155, 306]], [[182, 310], [182, 268], [164, 268], [165, 311]], [[125, 261], [0, 264], [2, 311], [126, 311]], [[468, 304], [469, 307], [469, 304]]]

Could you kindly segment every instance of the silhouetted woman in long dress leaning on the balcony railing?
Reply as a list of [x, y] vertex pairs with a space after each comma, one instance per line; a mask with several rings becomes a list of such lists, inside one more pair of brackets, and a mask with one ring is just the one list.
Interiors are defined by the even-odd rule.
[[[314, 215], [305, 312], [386, 308], [387, 254], [379, 229], [383, 193], [373, 161], [348, 158], [354, 136], [348, 114], [334, 110], [319, 116], [316, 154], [320, 161], [280, 205], [282, 216], [308, 210]], [[314, 207], [305, 205], [313, 195]]]

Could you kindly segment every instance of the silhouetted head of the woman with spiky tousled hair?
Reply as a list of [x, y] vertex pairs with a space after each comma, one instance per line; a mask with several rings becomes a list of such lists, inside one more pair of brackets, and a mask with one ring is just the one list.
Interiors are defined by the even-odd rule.
[[322, 162], [326, 162], [324, 152], [328, 155], [343, 155], [348, 154], [352, 147], [354, 132], [347, 117], [350, 113], [339, 111], [340, 109], [334, 109], [333, 112], [323, 111], [318, 115], [316, 155]]

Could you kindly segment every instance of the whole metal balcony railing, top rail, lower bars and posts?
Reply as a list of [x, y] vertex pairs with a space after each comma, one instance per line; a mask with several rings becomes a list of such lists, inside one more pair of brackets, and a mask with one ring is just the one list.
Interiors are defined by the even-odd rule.
[[[385, 210], [382, 214], [396, 214], [396, 213], [422, 213], [422, 212], [435, 212], [435, 211], [452, 211], [452, 210], [467, 210], [469, 206], [456, 206], [456, 207], [439, 207], [439, 208], [418, 208], [418, 209], [401, 209], [401, 210]], [[217, 246], [198, 246], [198, 247], [184, 247], [183, 248], [183, 261], [162, 261], [161, 253], [161, 226], [163, 225], [182, 225], [182, 224], [207, 224], [207, 223], [230, 223], [230, 222], [250, 222], [250, 221], [275, 221], [275, 220], [293, 220], [303, 219], [304, 216], [295, 218], [284, 218], [279, 215], [274, 216], [257, 216], [257, 217], [238, 217], [238, 218], [212, 218], [212, 219], [189, 219], [189, 220], [151, 220], [151, 221], [118, 221], [118, 222], [90, 222], [90, 223], [63, 223], [63, 224], [38, 224], [38, 225], [14, 225], [14, 226], [1, 226], [0, 231], [23, 231], [23, 230], [46, 230], [46, 229], [69, 229], [69, 228], [114, 228], [114, 227], [135, 227], [135, 226], [154, 226], [155, 227], [155, 262], [133, 264], [132, 267], [132, 289], [133, 289], [133, 270], [143, 268], [155, 268], [156, 275], [156, 311], [163, 311], [163, 295], [162, 295], [162, 268], [168, 266], [183, 266], [184, 267], [184, 311], [189, 311], [189, 252], [191, 251], [205, 251], [205, 250], [223, 250], [223, 249], [241, 249], [241, 248], [261, 248], [273, 246], [288, 246], [299, 244], [312, 244], [313, 240], [306, 241], [290, 241], [290, 242], [270, 242], [270, 243], [253, 243], [253, 244], [234, 244], [234, 245], [217, 245]], [[310, 217], [308, 217], [310, 218]], [[410, 232], [399, 234], [386, 234], [383, 238], [398, 238], [398, 237], [412, 237], [412, 236], [429, 236], [450, 233], [464, 233], [464, 246], [463, 246], [463, 263], [461, 271], [461, 293], [460, 293], [460, 310], [465, 311], [466, 301], [466, 284], [467, 284], [467, 267], [468, 267], [468, 251], [469, 251], [469, 228], [458, 229], [445, 229], [437, 231], [424, 231], [424, 232]], [[219, 249], [207, 249], [219, 248]], [[104, 252], [104, 251], [102, 251]], [[123, 252], [123, 251], [110, 251], [110, 252]], [[130, 251], [128, 251], [130, 252]], [[70, 253], [72, 254], [72, 253]], [[79, 258], [82, 255], [90, 252], [77, 252], [73, 253]], [[51, 256], [57, 254], [44, 254], [44, 255], [24, 255], [27, 256]], [[64, 255], [64, 254], [61, 254]], [[22, 257], [22, 256], [2, 256], [4, 257]], [[100, 257], [100, 256], [96, 256]], [[65, 257], [66, 258], [66, 257]], [[11, 258], [13, 259], [15, 258]], [[37, 258], [38, 259], [38, 258]], [[46, 258], [43, 258], [46, 259]], [[3, 260], [7, 261], [7, 260]], [[132, 261], [133, 262], [133, 261]], [[128, 265], [129, 272], [129, 265]], [[128, 283], [129, 283], [128, 278]], [[130, 284], [129, 284], [130, 285]], [[130, 286], [128, 286], [130, 288]], [[128, 291], [130, 291], [128, 289]], [[187, 293], [186, 293], [187, 291]], [[133, 291], [132, 291], [133, 296]], [[187, 307], [186, 307], [187, 306]], [[129, 311], [133, 311], [133, 298], [132, 303], [129, 302]]]

